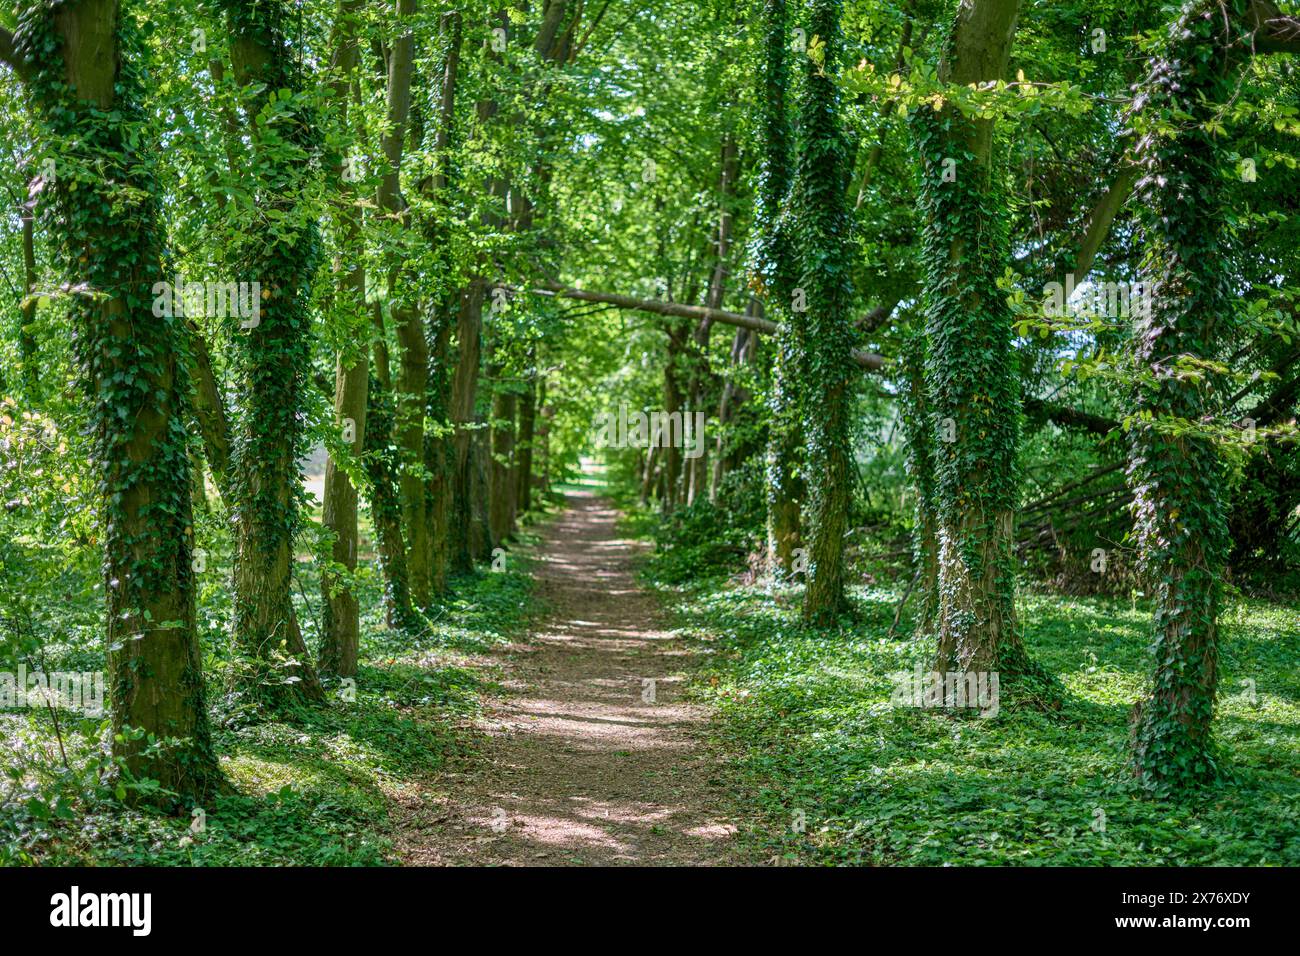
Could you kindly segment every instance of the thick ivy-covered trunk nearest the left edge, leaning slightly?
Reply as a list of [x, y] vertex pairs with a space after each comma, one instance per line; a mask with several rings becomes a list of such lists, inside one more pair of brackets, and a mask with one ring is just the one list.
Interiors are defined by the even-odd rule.
[[[16, 38], [55, 159], [52, 232], [88, 293], [73, 300], [74, 345], [101, 494], [113, 754], [200, 801], [224, 784], [195, 623], [185, 320], [152, 315], [162, 225], [139, 46], [117, 0], [35, 3]], [[151, 752], [148, 736], [179, 743]]]

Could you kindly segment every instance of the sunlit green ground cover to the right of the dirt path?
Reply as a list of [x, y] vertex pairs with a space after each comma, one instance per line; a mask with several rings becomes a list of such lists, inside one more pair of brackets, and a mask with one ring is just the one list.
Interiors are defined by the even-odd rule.
[[[651, 568], [654, 564], [651, 563]], [[892, 674], [930, 646], [887, 639], [897, 594], [864, 589], [852, 627], [807, 630], [794, 589], [668, 588], [706, 663], [742, 839], [820, 865], [1300, 865], [1300, 614], [1260, 602], [1222, 618], [1217, 736], [1230, 778], [1154, 800], [1126, 770], [1148, 672], [1138, 604], [1030, 593], [1031, 653], [1060, 675], [1058, 713], [894, 708]], [[1253, 682], [1253, 683], [1249, 683]], [[1253, 698], [1252, 698], [1253, 688]]]

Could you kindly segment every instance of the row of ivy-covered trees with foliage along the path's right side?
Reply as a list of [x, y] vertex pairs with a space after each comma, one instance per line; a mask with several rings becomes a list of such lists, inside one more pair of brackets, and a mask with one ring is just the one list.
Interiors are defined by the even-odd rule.
[[[803, 613], [814, 624], [848, 609], [845, 553], [858, 477], [852, 423], [862, 393], [874, 388], [863, 372], [884, 368], [907, 432], [919, 630], [935, 641], [935, 666], [1001, 671], [1004, 687], [1049, 706], [1061, 688], [1027, 654], [1015, 618], [1022, 394], [1030, 392], [1023, 410], [1035, 424], [1046, 419], [1071, 432], [1113, 433], [1110, 457], [1121, 445], [1114, 436], [1126, 434], [1126, 455], [1096, 473], [1127, 472], [1122, 499], [1131, 505], [1136, 563], [1153, 598], [1156, 667], [1152, 695], [1134, 713], [1135, 771], [1154, 788], [1213, 778], [1230, 509], [1248, 510], [1230, 502], [1225, 488], [1230, 471], [1243, 467], [1294, 473], [1290, 432], [1279, 428], [1295, 410], [1287, 333], [1294, 300], [1280, 265], [1287, 254], [1273, 261], [1244, 258], [1236, 234], [1258, 229], [1254, 221], [1243, 225], [1234, 206], [1243, 206], [1240, 186], [1254, 182], [1242, 174], [1253, 173], [1254, 160], [1244, 164], [1242, 153], [1261, 148], [1261, 120], [1270, 117], [1270, 133], [1295, 133], [1287, 109], [1271, 112], [1277, 94], [1268, 83], [1292, 88], [1290, 65], [1277, 68], [1270, 57], [1297, 49], [1296, 20], [1245, 0], [1186, 3], [1167, 20], [1145, 8], [1092, 17], [1070, 10], [1030, 26], [1039, 56], [1024, 62], [1035, 62], [1043, 79], [1027, 79], [1028, 66], [1014, 78], [1009, 70], [1026, 29], [1018, 0], [974, 0], [952, 14], [944, 5], [885, 9], [835, 0], [810, 0], [793, 12], [780, 0], [760, 7], [750, 59], [753, 216], [742, 221], [751, 230], [748, 307], [719, 310], [711, 286], [701, 307], [590, 291], [585, 298], [696, 320], [694, 336], [689, 324], [670, 326], [663, 403], [670, 411], [716, 408], [741, 458], [753, 455], [754, 444], [736, 428], [736, 381], [758, 376], [767, 394], [758, 415], [766, 432], [768, 562], [777, 575], [806, 574]], [[848, 40], [845, 22], [866, 39]], [[893, 72], [876, 73], [881, 57], [872, 53], [883, 47], [876, 38], [892, 26]], [[1052, 27], [1066, 35], [1063, 44], [1044, 39]], [[1080, 66], [1106, 51], [1108, 35], [1139, 31], [1145, 31], [1140, 56]], [[915, 47], [930, 35], [937, 55], [927, 61]], [[719, 51], [719, 59], [727, 56]], [[1261, 101], [1244, 101], [1261, 83]], [[725, 143], [731, 117], [722, 117]], [[1057, 129], [1043, 131], [1045, 121]], [[1083, 191], [1096, 200], [1084, 216], [1069, 212], [1066, 199], [1075, 195], [1037, 202], [1015, 195], [1026, 164], [1009, 144], [1017, 126], [1040, 131], [1061, 165], [1067, 151], [1096, 161], [1098, 142], [1118, 140], [1108, 163], [1112, 181], [1097, 182], [1088, 169], [1092, 181]], [[902, 185], [887, 191], [874, 178], [890, 146]], [[722, 186], [710, 191], [710, 204], [724, 217], [705, 259], [725, 263], [725, 230], [733, 228], [725, 213], [734, 200], [724, 163], [719, 168]], [[1290, 208], [1290, 191], [1282, 194], [1269, 199]], [[894, 221], [909, 199], [911, 234]], [[1112, 237], [1126, 204], [1131, 213]], [[1122, 243], [1124, 258], [1095, 280], [1145, 290], [1147, 304], [1135, 298], [1131, 315], [1126, 308], [1069, 328], [1053, 323], [1032, 280], [1083, 285], [1108, 239]], [[660, 263], [672, 267], [667, 255]], [[1046, 284], [1039, 287], [1048, 291]], [[692, 303], [689, 280], [682, 290], [682, 302]], [[1262, 293], [1262, 302], [1244, 302], [1245, 290]], [[712, 359], [710, 368], [712, 323], [734, 325], [737, 342], [771, 333], [759, 372], [737, 371], [754, 360], [737, 347], [729, 365]], [[1242, 336], [1253, 341], [1240, 347]], [[1037, 337], [1046, 345], [1036, 345]], [[897, 360], [870, 351], [875, 343]], [[1063, 377], [1062, 351], [1072, 355], [1072, 372]], [[1089, 375], [1105, 384], [1109, 415], [1034, 394], [1046, 392], [1044, 384], [1054, 392], [1070, 386], [1096, 405], [1096, 386], [1083, 386]], [[694, 382], [708, 376], [718, 384], [716, 405], [696, 394]], [[684, 380], [692, 382], [686, 399]], [[1243, 455], [1243, 445], [1257, 440], [1261, 423], [1252, 415], [1260, 412], [1274, 447], [1261, 453], [1256, 445]], [[737, 460], [722, 444], [719, 453], [716, 475]], [[637, 462], [644, 497], [658, 493], [666, 511], [696, 501], [698, 483], [681, 473], [671, 450], [659, 457], [651, 449]], [[1294, 477], [1280, 479], [1280, 486], [1294, 490]], [[711, 492], [716, 497], [716, 483]], [[1294, 494], [1283, 492], [1273, 503], [1277, 546], [1294, 533]]]

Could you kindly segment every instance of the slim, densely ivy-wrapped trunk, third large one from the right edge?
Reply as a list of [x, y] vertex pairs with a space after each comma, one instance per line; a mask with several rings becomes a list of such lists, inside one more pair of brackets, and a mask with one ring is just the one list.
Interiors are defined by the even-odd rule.
[[803, 618], [820, 624], [848, 609], [844, 535], [853, 468], [849, 408], [852, 384], [858, 377], [850, 354], [853, 252], [846, 199], [848, 146], [835, 79], [836, 62], [842, 55], [840, 8], [840, 0], [811, 3], [809, 35], [819, 40], [822, 52], [818, 60], [810, 56], [806, 68], [790, 194], [800, 300], [789, 303], [789, 323], [794, 330], [807, 442], [809, 567]]

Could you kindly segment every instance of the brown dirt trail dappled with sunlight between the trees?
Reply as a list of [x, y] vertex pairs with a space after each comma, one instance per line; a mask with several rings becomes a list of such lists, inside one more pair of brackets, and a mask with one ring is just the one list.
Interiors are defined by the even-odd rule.
[[742, 864], [706, 715], [681, 700], [686, 650], [633, 579], [640, 545], [618, 537], [607, 501], [575, 492], [567, 505], [538, 553], [547, 618], [506, 652], [511, 695], [490, 702], [480, 752], [439, 780], [437, 816], [412, 814], [403, 858]]

